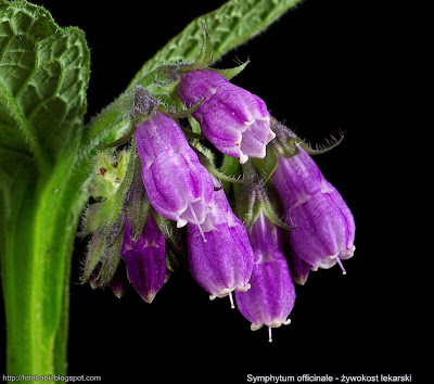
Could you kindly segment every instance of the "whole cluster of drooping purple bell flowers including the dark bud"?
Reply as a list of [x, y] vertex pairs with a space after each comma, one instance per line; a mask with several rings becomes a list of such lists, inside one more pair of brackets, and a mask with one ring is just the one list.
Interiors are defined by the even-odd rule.
[[[192, 116], [203, 136], [240, 164], [265, 158], [267, 144], [273, 145], [276, 135], [265, 102], [219, 73], [181, 73], [177, 94], [187, 107], [201, 101]], [[278, 192], [291, 229], [271, 222], [261, 207], [248, 226], [243, 225], [220, 181], [201, 164], [170, 114], [157, 110], [139, 124], [135, 143], [153, 214], [176, 221], [177, 228], [187, 226], [191, 276], [210, 299], [229, 296], [234, 307], [234, 292], [238, 309], [252, 330], [268, 327], [271, 341], [271, 328], [290, 322], [293, 282], [304, 284], [309, 270], [337, 263], [345, 272], [341, 260], [355, 249], [353, 215], [299, 142], [291, 156], [278, 157], [272, 178], [260, 185]], [[289, 253], [284, 238], [291, 244]], [[166, 239], [153, 215], [148, 215], [138, 239], [126, 218], [120, 256], [132, 286], [151, 303], [168, 273]]]

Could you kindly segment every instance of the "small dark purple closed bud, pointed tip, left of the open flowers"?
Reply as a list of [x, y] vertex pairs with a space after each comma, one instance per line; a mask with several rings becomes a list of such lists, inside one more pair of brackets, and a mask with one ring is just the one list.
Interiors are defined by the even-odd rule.
[[165, 238], [151, 214], [148, 215], [142, 233], [136, 242], [127, 219], [120, 255], [132, 286], [143, 300], [151, 303], [166, 278]]

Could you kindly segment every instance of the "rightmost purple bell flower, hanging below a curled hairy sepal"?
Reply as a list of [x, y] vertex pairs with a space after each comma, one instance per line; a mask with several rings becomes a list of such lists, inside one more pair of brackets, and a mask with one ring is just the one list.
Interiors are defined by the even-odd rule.
[[330, 268], [354, 254], [355, 222], [337, 190], [326, 180], [307, 152], [280, 157], [272, 176], [286, 216], [295, 254], [312, 269]]

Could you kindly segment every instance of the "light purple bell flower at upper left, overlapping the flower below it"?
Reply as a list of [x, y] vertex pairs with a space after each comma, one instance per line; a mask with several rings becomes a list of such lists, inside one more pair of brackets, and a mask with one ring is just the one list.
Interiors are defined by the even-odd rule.
[[178, 228], [201, 225], [213, 200], [213, 181], [178, 123], [158, 111], [137, 127], [136, 145], [155, 210]]

